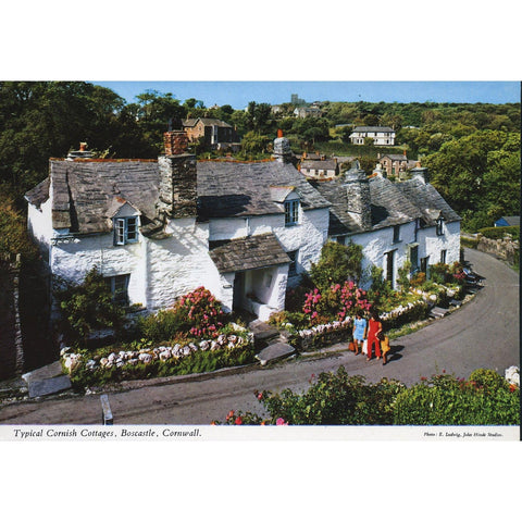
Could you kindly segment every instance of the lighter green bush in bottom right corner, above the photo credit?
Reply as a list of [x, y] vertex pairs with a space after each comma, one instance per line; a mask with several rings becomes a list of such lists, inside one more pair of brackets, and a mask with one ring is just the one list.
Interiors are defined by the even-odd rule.
[[394, 408], [394, 424], [518, 425], [520, 389], [490, 370], [475, 371], [468, 381], [443, 373], [403, 390]]

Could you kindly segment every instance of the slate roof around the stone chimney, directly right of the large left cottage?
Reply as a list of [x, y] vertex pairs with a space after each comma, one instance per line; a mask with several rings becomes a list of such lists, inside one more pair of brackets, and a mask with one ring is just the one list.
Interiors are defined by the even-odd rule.
[[420, 210], [400, 191], [398, 184], [381, 176], [369, 179], [372, 227], [363, 229], [348, 212], [348, 196], [343, 187], [344, 176], [331, 182], [314, 184], [318, 190], [332, 202], [328, 235], [352, 235], [386, 226], [401, 225], [421, 217]]

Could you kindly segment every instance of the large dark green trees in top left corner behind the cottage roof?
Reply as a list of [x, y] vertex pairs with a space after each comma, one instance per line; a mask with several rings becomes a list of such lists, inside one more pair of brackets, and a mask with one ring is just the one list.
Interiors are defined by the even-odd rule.
[[85, 82], [0, 82], [0, 185], [22, 195], [48, 175], [49, 158], [86, 141], [119, 158], [148, 158], [123, 98]]

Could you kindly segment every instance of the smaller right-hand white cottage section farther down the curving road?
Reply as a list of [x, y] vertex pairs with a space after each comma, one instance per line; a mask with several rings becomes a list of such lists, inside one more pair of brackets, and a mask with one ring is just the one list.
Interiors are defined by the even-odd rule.
[[314, 186], [332, 203], [328, 237], [363, 250], [363, 270], [373, 265], [396, 286], [407, 261], [412, 272], [460, 259], [460, 217], [430, 185], [427, 170], [412, 170], [412, 179], [391, 183], [382, 170], [368, 177], [356, 161], [340, 178]]

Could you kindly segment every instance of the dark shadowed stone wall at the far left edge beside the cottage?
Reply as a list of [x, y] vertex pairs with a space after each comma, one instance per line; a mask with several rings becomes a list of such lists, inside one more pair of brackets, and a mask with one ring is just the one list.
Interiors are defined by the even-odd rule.
[[0, 381], [24, 369], [18, 290], [20, 261], [0, 258]]

